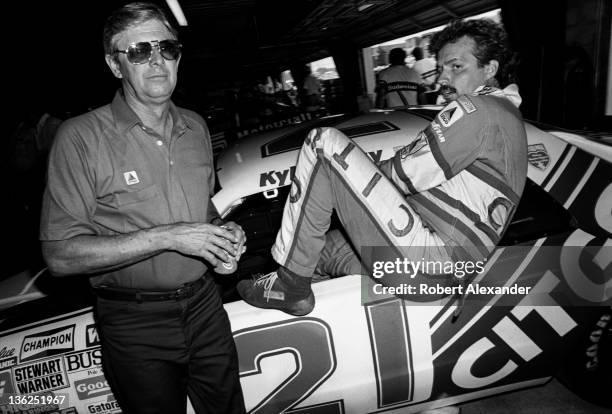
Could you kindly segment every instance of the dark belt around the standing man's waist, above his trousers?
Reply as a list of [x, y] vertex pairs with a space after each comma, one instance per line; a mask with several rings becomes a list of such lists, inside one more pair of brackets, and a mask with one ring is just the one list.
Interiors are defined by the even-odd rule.
[[[206, 277], [206, 276], [204, 276]], [[109, 300], [123, 300], [130, 302], [159, 302], [164, 300], [181, 300], [196, 294], [204, 286], [204, 277], [194, 282], [185, 283], [175, 290], [152, 291], [139, 289], [124, 289], [111, 286], [93, 288], [94, 293]]]

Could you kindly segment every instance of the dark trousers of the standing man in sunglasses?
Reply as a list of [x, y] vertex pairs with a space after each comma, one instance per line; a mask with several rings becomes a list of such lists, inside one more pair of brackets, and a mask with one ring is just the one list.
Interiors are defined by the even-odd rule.
[[190, 298], [98, 298], [104, 374], [124, 413], [244, 413], [238, 358], [213, 281]]

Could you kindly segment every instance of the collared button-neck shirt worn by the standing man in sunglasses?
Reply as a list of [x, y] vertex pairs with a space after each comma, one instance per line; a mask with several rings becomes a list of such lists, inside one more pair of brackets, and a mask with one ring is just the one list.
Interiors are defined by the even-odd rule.
[[[218, 216], [210, 200], [215, 178], [206, 124], [172, 103], [170, 115], [171, 136], [161, 137], [118, 92], [111, 104], [64, 122], [49, 155], [40, 239], [118, 235]], [[91, 283], [168, 290], [205, 270], [200, 259], [164, 252]]]

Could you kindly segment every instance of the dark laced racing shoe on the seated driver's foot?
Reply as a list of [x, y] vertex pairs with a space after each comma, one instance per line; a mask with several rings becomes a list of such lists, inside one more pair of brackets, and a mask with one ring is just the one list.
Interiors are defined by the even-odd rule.
[[295, 316], [309, 314], [315, 302], [310, 278], [281, 272], [241, 280], [236, 287], [238, 293], [245, 302], [258, 308], [278, 309]]

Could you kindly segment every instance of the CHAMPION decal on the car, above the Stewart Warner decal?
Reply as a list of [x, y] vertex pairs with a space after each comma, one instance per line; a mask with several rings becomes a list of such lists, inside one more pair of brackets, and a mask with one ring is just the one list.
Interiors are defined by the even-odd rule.
[[21, 345], [21, 362], [74, 350], [74, 325], [28, 335]]

